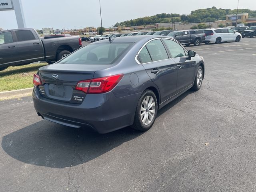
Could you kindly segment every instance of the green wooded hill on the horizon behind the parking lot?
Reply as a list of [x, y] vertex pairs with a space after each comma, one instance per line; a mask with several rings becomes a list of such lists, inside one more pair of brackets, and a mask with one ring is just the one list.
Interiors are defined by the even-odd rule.
[[[248, 13], [248, 18], [256, 18], [256, 10], [250, 9], [238, 9], [238, 13]], [[168, 22], [212, 22], [216, 20], [226, 20], [227, 14], [236, 14], [236, 9], [217, 9], [216, 7], [207, 8], [207, 9], [198, 9], [191, 11], [189, 15], [180, 15], [180, 14], [156, 14], [154, 16], [147, 16], [143, 18], [131, 19], [124, 22], [116, 23], [114, 26], [125, 25], [130, 26], [139, 26], [139, 25], [150, 25], [156, 23], [168, 23]]]

